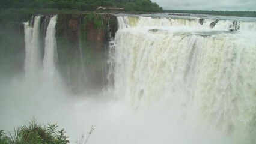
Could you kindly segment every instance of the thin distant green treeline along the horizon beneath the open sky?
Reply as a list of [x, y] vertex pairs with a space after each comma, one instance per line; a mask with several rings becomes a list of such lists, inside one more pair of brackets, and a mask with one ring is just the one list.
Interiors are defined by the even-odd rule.
[[166, 13], [213, 14], [219, 16], [256, 17], [256, 11], [163, 10]]

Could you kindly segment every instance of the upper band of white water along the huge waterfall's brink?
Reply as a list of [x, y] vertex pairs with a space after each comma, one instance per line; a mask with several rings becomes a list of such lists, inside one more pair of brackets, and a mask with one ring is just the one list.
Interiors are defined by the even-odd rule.
[[[118, 29], [124, 28], [159, 28], [172, 31], [228, 31], [236, 20], [218, 19], [216, 25], [210, 28], [215, 19], [204, 19], [202, 25], [199, 19], [171, 19], [166, 17], [117, 17]], [[240, 31], [256, 31], [256, 22], [239, 22]]]

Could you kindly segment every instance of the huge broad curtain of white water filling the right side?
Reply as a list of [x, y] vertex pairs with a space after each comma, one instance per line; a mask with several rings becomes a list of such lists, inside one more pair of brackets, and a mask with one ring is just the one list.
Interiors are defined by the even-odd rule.
[[[234, 143], [255, 143], [255, 22], [117, 17], [109, 61], [114, 95], [136, 107], [157, 101], [188, 111], [229, 134]], [[110, 75], [110, 74], [109, 74]]]

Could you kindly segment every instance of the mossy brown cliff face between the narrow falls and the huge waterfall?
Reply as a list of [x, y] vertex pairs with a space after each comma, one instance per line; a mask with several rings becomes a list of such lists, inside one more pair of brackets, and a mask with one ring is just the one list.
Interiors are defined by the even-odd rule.
[[108, 41], [117, 31], [111, 14], [59, 15], [56, 25], [59, 71], [75, 92], [105, 85]]

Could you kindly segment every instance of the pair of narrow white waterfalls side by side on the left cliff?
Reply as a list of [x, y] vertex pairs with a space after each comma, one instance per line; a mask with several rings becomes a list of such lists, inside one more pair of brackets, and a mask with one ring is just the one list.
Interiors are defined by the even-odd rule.
[[[47, 19], [47, 17], [45, 19]], [[36, 80], [41, 77], [41, 74], [44, 74], [44, 76], [50, 79], [59, 77], [56, 70], [56, 61], [58, 60], [55, 37], [56, 20], [57, 16], [51, 17], [49, 24], [46, 23], [47, 20], [44, 20], [43, 26], [47, 25], [45, 39], [43, 37], [44, 34], [40, 31], [42, 27], [40, 24], [41, 16], [32, 17], [30, 25], [28, 22], [24, 23], [26, 53], [25, 73], [28, 79]], [[41, 51], [43, 51], [42, 41], [45, 41], [43, 56], [41, 54]], [[42, 71], [43, 73], [41, 73]]]

